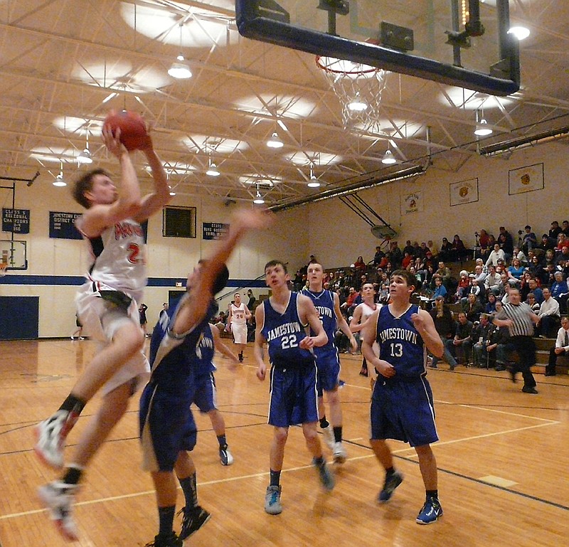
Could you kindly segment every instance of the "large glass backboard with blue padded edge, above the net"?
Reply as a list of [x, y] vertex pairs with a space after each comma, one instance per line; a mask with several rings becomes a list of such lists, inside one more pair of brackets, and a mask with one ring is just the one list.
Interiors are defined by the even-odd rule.
[[519, 90], [508, 0], [236, 0], [239, 32], [491, 95]]

